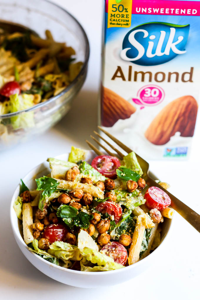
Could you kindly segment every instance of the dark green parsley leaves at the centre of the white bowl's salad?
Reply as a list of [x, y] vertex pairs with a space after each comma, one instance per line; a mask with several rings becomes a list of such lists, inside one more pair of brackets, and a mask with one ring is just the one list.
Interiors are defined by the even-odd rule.
[[93, 219], [93, 215], [78, 211], [70, 205], [61, 205], [58, 208], [57, 216], [63, 218], [65, 224], [70, 228], [76, 225], [86, 229], [90, 225], [90, 220]]

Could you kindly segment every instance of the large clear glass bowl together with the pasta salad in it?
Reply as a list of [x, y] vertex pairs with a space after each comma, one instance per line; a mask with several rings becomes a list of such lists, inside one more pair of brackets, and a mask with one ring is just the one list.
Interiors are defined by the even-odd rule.
[[0, 151], [42, 134], [69, 111], [89, 58], [84, 29], [58, 5], [7, 0], [1, 6]]

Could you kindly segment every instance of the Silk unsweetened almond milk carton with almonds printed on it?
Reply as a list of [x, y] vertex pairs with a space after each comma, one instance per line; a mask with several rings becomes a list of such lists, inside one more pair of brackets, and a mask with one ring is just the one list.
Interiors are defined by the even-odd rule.
[[101, 126], [143, 158], [190, 152], [199, 27], [200, 1], [105, 1]]

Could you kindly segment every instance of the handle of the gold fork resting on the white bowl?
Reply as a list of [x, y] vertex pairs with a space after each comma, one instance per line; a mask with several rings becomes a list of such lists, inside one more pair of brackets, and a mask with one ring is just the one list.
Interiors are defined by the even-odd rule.
[[200, 232], [200, 215], [196, 213], [192, 208], [181, 202], [174, 195], [169, 193], [164, 187], [158, 184], [155, 180], [148, 176], [146, 180], [148, 186], [156, 186], [161, 190], [164, 190], [171, 198], [171, 206], [175, 209], [188, 223], [190, 223], [197, 231]]

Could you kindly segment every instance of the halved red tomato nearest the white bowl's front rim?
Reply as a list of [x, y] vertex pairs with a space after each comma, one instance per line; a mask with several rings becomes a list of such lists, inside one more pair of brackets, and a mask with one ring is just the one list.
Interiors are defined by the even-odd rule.
[[115, 262], [125, 265], [127, 262], [127, 250], [119, 242], [109, 242], [101, 249], [101, 252], [112, 257]]

